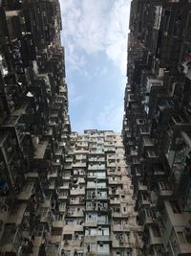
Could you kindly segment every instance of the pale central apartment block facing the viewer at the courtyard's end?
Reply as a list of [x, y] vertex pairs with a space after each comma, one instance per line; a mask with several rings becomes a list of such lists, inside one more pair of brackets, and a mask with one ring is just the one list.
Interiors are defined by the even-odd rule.
[[122, 136], [114, 131], [71, 133], [65, 174], [71, 179], [62, 231], [63, 255], [141, 255], [133, 186]]

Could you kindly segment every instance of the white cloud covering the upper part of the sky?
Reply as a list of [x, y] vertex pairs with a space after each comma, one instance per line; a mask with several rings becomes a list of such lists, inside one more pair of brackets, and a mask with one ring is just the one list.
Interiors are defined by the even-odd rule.
[[130, 0], [60, 0], [68, 69], [80, 70], [87, 54], [103, 51], [126, 75]]

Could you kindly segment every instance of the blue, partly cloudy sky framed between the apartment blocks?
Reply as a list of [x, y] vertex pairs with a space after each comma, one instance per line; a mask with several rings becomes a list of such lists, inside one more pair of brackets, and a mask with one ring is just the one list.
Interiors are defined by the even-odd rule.
[[130, 0], [60, 0], [72, 130], [121, 131]]

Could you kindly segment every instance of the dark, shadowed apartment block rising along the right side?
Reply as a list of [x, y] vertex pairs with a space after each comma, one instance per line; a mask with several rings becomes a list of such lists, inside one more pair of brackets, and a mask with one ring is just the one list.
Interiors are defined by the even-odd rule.
[[133, 0], [123, 141], [142, 255], [191, 255], [191, 3]]

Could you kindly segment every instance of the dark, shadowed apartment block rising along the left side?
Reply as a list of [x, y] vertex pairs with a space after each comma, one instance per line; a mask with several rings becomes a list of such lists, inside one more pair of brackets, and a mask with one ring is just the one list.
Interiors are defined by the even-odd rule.
[[2, 256], [60, 255], [71, 133], [60, 30], [57, 0], [0, 1]]

